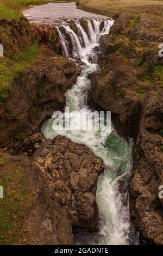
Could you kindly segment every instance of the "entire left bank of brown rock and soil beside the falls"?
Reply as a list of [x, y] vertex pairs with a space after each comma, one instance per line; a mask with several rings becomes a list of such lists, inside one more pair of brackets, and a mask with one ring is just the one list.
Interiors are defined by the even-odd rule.
[[59, 55], [55, 27], [22, 17], [1, 20], [0, 28], [0, 244], [72, 245], [72, 227], [98, 230], [104, 164], [84, 145], [61, 136], [45, 141], [35, 132], [62, 110], [80, 68]]

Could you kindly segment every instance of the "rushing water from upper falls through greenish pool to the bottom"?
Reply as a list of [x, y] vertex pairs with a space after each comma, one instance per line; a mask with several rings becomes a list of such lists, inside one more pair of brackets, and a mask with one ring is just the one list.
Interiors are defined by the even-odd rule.
[[[43, 10], [43, 5], [40, 8]], [[70, 107], [71, 112], [78, 111], [79, 114], [82, 111], [92, 111], [87, 102], [87, 90], [91, 87], [89, 74], [99, 69], [95, 47], [99, 45], [100, 36], [109, 34], [110, 27], [114, 23], [113, 20], [106, 17], [87, 15], [89, 17], [82, 16], [87, 24], [86, 29], [82, 27], [80, 19], [71, 19], [76, 25], [77, 32], [71, 28], [70, 16], [67, 20], [58, 19], [54, 22], [60, 36], [62, 53], [83, 63], [82, 72], [78, 76], [76, 84], [66, 92], [66, 105]], [[62, 18], [61, 14], [60, 18]], [[71, 47], [68, 40], [71, 40]], [[72, 116], [72, 124], [77, 124], [78, 118], [78, 115]], [[130, 223], [127, 190], [132, 168], [132, 142], [127, 142], [118, 136], [113, 125], [111, 134], [106, 132], [105, 136], [102, 136], [101, 132], [95, 130], [75, 131], [73, 125], [71, 130], [58, 131], [53, 127], [53, 120], [52, 117], [42, 126], [45, 138], [53, 139], [60, 134], [73, 142], [85, 144], [96, 156], [101, 157], [105, 164], [104, 173], [99, 176], [97, 184], [96, 200], [101, 220], [99, 232], [96, 237], [86, 237], [86, 241], [81, 240], [81, 236], [79, 236], [76, 242], [92, 245], [137, 243], [134, 228]]]

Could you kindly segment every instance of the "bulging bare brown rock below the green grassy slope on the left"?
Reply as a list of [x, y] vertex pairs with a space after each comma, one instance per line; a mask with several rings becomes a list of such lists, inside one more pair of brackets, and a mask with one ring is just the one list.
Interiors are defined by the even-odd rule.
[[74, 62], [48, 48], [46, 54], [14, 82], [0, 106], [1, 147], [38, 131], [55, 110], [62, 109], [66, 90], [77, 80], [80, 69]]

